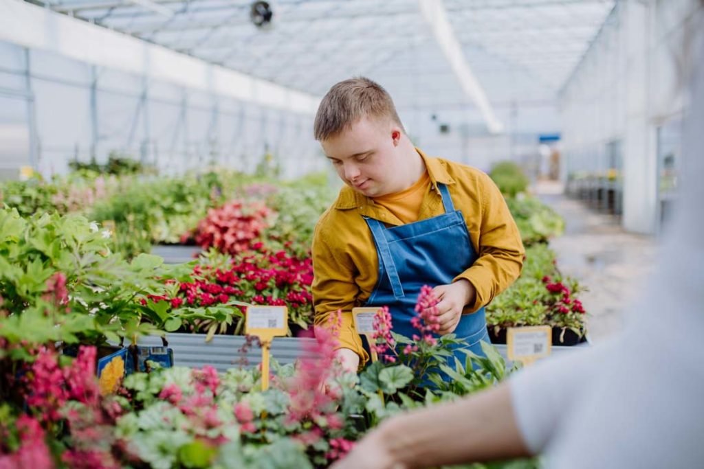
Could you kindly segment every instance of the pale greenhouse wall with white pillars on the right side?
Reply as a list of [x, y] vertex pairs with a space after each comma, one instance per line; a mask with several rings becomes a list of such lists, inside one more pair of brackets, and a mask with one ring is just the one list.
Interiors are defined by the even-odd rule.
[[562, 89], [562, 178], [617, 174], [629, 231], [658, 233], [677, 197], [683, 25], [701, 14], [695, 0], [620, 2]]

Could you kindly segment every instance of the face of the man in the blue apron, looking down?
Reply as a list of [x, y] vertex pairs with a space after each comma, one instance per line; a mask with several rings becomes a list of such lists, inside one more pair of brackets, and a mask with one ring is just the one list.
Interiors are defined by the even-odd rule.
[[378, 197], [405, 189], [399, 177], [400, 139], [401, 128], [391, 120], [363, 117], [320, 145], [345, 184]]

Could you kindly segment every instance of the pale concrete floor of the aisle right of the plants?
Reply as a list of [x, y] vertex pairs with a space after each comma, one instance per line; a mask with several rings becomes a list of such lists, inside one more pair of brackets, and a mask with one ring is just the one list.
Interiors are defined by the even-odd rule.
[[565, 234], [550, 245], [562, 274], [589, 289], [579, 297], [589, 314], [589, 337], [601, 342], [622, 327], [629, 303], [653, 271], [657, 241], [627, 233], [617, 217], [567, 198], [559, 183], [541, 181], [532, 191], [565, 218]]

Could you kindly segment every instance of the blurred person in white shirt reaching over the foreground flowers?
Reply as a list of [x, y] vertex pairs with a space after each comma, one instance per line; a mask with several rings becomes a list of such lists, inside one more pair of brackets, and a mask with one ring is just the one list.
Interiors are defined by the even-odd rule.
[[624, 332], [467, 399], [386, 420], [335, 469], [532, 454], [550, 468], [704, 467], [703, 39], [699, 31], [690, 44], [678, 212]]

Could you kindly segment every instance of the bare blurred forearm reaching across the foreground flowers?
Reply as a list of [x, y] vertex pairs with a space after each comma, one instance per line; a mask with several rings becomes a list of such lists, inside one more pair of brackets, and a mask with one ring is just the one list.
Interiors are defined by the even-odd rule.
[[521, 456], [529, 451], [504, 383], [470, 399], [386, 420], [332, 468], [428, 468]]

